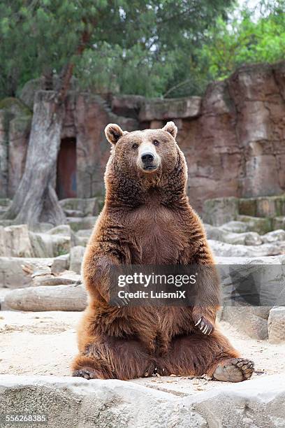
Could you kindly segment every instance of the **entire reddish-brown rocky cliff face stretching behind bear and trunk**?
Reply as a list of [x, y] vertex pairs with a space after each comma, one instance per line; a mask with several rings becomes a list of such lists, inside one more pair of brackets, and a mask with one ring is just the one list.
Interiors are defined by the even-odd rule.
[[[71, 92], [62, 138], [76, 138], [78, 197], [103, 192], [109, 155], [103, 129], [108, 122], [131, 131], [161, 127], [167, 120], [179, 128], [178, 143], [189, 166], [189, 196], [198, 211], [205, 199], [285, 191], [285, 62], [280, 62], [244, 66], [231, 78], [209, 85], [202, 99], [114, 96], [106, 102]], [[2, 197], [13, 197], [27, 150], [27, 125], [21, 134], [15, 124], [10, 122], [8, 129], [6, 124], [8, 153], [4, 145], [0, 150]]]

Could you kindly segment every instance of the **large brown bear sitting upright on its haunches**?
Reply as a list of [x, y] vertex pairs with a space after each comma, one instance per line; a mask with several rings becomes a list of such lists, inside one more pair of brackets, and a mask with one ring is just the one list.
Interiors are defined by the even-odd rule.
[[[254, 363], [241, 358], [216, 323], [219, 279], [198, 281], [192, 306], [110, 306], [112, 266], [214, 265], [203, 224], [186, 194], [187, 164], [177, 127], [122, 131], [109, 124], [105, 206], [85, 252], [89, 304], [78, 328], [73, 376], [127, 380], [201, 376], [240, 382]], [[125, 305], [126, 304], [126, 305]]]

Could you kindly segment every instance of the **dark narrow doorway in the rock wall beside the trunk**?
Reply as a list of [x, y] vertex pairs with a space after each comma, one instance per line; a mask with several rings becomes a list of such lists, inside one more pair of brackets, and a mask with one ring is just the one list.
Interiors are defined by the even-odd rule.
[[57, 157], [57, 196], [75, 198], [76, 191], [76, 138], [63, 138]]

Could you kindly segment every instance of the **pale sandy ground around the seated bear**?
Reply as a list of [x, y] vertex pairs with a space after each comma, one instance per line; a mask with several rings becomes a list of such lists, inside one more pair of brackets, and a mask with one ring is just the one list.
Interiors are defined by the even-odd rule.
[[[77, 353], [75, 329], [80, 316], [75, 312], [0, 311], [0, 374], [70, 376], [69, 366]], [[254, 373], [254, 377], [285, 373], [285, 343], [272, 345], [244, 337], [226, 322], [221, 322], [221, 328], [244, 357], [254, 360], [256, 370], [264, 371]], [[175, 376], [132, 382], [177, 395], [195, 394], [219, 385], [203, 378]]]

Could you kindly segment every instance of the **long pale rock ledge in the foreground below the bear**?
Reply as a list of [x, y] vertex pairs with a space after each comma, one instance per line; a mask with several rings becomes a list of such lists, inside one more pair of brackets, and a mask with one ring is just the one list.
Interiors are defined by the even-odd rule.
[[0, 411], [45, 415], [47, 428], [273, 428], [285, 424], [284, 385], [276, 375], [179, 397], [122, 380], [2, 375]]

